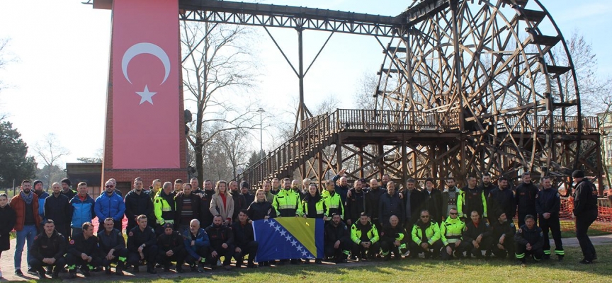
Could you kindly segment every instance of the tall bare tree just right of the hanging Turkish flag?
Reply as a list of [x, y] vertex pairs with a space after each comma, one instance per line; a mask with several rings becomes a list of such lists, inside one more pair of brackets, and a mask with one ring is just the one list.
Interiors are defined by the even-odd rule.
[[[254, 103], [240, 105], [242, 100], [228, 98], [231, 90], [248, 91], [256, 78], [251, 47], [244, 43], [250, 30], [243, 25], [181, 22], [183, 50], [183, 86], [195, 103], [188, 142], [193, 147], [196, 174], [203, 182], [204, 149], [217, 134], [234, 129], [254, 127], [257, 108]], [[214, 131], [207, 125], [218, 123]]]

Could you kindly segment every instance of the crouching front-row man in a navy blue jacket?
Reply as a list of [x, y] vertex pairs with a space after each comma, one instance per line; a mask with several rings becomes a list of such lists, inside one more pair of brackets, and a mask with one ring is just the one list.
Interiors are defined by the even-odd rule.
[[198, 272], [204, 272], [204, 262], [210, 262], [210, 240], [208, 240], [208, 233], [204, 229], [200, 229], [198, 219], [191, 220], [189, 229], [183, 231], [183, 239], [183, 244], [187, 250], [185, 261], [191, 267], [191, 271], [197, 269]]

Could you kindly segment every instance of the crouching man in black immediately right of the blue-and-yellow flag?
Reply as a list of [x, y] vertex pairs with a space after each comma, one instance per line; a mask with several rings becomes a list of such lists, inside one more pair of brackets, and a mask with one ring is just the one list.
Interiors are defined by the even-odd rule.
[[325, 256], [333, 262], [346, 263], [348, 253], [351, 252], [351, 232], [342, 222], [340, 214], [331, 214], [331, 221], [325, 224], [324, 236]]

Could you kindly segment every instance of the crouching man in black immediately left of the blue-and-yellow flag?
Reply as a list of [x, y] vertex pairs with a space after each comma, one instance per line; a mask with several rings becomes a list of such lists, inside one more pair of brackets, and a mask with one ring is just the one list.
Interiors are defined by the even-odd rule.
[[234, 233], [234, 259], [236, 259], [236, 267], [240, 267], [244, 262], [244, 255], [249, 255], [249, 259], [246, 261], [246, 267], [254, 268], [257, 267], [253, 263], [257, 255], [257, 248], [259, 243], [255, 241], [253, 232], [253, 225], [249, 221], [249, 217], [246, 216], [246, 209], [240, 209], [238, 212], [238, 221], [232, 224], [232, 231]]

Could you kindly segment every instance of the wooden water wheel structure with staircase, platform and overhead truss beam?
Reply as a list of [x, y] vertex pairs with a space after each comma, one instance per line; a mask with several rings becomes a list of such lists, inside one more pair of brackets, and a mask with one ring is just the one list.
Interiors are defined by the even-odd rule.
[[582, 168], [601, 183], [597, 118], [582, 116], [570, 52], [538, 0], [419, 0], [397, 16], [232, 1], [180, 5], [184, 21], [295, 28], [300, 54], [302, 30], [371, 35], [384, 53], [373, 109], [317, 117], [303, 104], [300, 56], [299, 71], [293, 68], [299, 131], [237, 179], [321, 183], [346, 167], [352, 178], [388, 173], [402, 183], [450, 176], [463, 183], [482, 173], [516, 179], [523, 171], [571, 183], [567, 177]]

